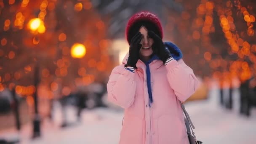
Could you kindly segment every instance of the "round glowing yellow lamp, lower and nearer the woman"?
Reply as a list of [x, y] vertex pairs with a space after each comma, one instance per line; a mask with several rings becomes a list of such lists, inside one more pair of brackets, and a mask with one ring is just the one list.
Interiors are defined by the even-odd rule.
[[75, 43], [71, 50], [70, 50], [71, 56], [73, 58], [83, 58], [85, 56], [86, 53], [86, 49], [85, 46], [83, 44], [80, 43]]

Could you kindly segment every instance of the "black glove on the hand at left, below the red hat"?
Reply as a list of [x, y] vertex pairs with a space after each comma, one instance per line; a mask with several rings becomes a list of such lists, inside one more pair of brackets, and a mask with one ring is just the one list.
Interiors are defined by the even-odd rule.
[[142, 35], [140, 32], [138, 32], [132, 39], [130, 43], [130, 49], [129, 49], [129, 57], [127, 60], [127, 64], [125, 64], [125, 67], [131, 66], [134, 69], [137, 69], [136, 63], [139, 59], [139, 50], [141, 48], [141, 38]]

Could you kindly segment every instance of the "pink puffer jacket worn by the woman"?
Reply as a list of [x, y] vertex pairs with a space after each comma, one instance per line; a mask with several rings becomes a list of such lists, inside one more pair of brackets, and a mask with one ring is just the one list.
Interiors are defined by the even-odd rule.
[[115, 67], [107, 83], [108, 100], [125, 109], [119, 144], [189, 144], [179, 101], [191, 96], [198, 81], [182, 59], [167, 65], [149, 64], [153, 102], [149, 107], [146, 65], [139, 60], [135, 73]]

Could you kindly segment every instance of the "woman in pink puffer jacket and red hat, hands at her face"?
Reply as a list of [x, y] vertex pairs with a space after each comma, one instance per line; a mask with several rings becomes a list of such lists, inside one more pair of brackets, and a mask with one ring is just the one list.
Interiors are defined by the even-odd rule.
[[119, 144], [189, 144], [180, 101], [198, 86], [193, 70], [176, 45], [163, 43], [152, 13], [133, 15], [126, 38], [129, 53], [107, 83], [108, 100], [125, 109]]

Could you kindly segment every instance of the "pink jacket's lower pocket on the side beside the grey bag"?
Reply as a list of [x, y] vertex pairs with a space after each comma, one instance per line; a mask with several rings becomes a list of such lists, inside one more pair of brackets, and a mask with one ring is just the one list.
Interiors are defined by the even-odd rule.
[[184, 123], [176, 115], [158, 118], [158, 144], [185, 144], [187, 133]]

